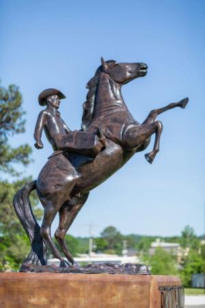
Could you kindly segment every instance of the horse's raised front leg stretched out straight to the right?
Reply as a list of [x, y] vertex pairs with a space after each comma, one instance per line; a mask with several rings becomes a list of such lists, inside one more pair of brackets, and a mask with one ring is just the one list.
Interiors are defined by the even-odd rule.
[[152, 110], [149, 114], [146, 120], [143, 121], [143, 125], [154, 123], [156, 120], [156, 116], [159, 116], [159, 114], [162, 114], [163, 112], [166, 112], [167, 110], [170, 110], [175, 107], [180, 107], [184, 109], [187, 106], [189, 99], [186, 97], [185, 99], [182, 99], [181, 101], [178, 101], [178, 103], [170, 103], [169, 105], [159, 108], [159, 109], [154, 109]]

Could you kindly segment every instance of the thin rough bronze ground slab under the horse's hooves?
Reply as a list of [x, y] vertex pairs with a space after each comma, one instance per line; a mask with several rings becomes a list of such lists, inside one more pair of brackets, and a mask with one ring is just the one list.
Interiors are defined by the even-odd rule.
[[89, 264], [87, 266], [39, 266], [35, 264], [22, 264], [20, 272], [52, 272], [52, 273], [70, 273], [70, 274], [150, 274], [148, 267], [143, 264]]

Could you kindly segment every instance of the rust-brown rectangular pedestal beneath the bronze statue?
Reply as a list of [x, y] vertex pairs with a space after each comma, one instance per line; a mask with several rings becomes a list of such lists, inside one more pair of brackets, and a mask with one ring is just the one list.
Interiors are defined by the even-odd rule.
[[183, 308], [174, 276], [0, 273], [0, 307]]

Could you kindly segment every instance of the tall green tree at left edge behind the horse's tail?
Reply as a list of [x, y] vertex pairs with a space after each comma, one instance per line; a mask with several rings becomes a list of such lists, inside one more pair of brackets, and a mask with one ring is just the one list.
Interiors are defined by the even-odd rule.
[[[27, 166], [31, 162], [31, 147], [23, 144], [14, 148], [9, 142], [12, 136], [25, 131], [24, 114], [18, 87], [0, 86], [0, 270], [17, 269], [29, 252], [29, 241], [14, 212], [12, 199], [31, 180], [23, 178], [14, 168], [15, 164]], [[40, 218], [42, 211], [36, 207], [35, 194], [31, 202], [36, 217]]]

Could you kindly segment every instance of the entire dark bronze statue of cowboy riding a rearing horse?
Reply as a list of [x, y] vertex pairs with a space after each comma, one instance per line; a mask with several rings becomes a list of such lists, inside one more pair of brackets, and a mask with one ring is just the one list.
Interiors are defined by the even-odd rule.
[[[38, 101], [40, 105], [46, 105], [46, 109], [40, 112], [36, 123], [36, 148], [43, 147], [41, 135], [44, 129], [54, 153], [40, 170], [38, 178], [27, 183], [14, 196], [16, 214], [31, 242], [31, 251], [23, 265], [25, 268], [46, 265], [46, 248], [50, 248], [53, 256], [59, 259], [60, 267], [74, 264], [65, 237], [90, 192], [122, 168], [135, 153], [147, 149], [153, 134], [154, 145], [145, 157], [152, 164], [159, 153], [163, 125], [157, 120], [157, 116], [176, 107], [184, 109], [189, 99], [152, 110], [140, 124], [124, 102], [122, 86], [146, 76], [147, 71], [148, 66], [143, 62], [119, 63], [102, 58], [94, 77], [87, 82], [82, 131], [70, 131], [61, 119], [58, 108], [59, 100], [65, 98], [64, 94], [56, 89], [47, 89], [40, 93]], [[139, 170], [135, 170], [135, 177], [140, 183]], [[129, 177], [124, 179], [129, 180]], [[133, 187], [136, 190], [134, 201], [138, 197], [137, 188], [139, 186], [136, 183]], [[41, 227], [33, 215], [29, 201], [33, 190], [36, 190], [44, 207]], [[109, 213], [106, 203], [105, 209]], [[123, 205], [124, 212], [126, 204]], [[57, 213], [59, 225], [55, 231], [55, 239], [69, 264], [51, 238], [51, 224]], [[143, 214], [141, 209], [142, 217]], [[143, 269], [143, 274], [148, 274], [148, 270]]]

